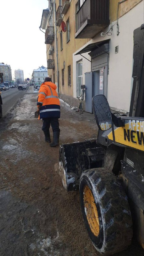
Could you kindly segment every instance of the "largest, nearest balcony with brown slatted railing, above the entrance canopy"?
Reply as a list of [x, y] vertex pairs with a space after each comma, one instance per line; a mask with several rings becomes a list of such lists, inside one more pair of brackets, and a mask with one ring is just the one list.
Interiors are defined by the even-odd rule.
[[75, 38], [93, 38], [109, 25], [109, 0], [85, 0], [76, 13]]

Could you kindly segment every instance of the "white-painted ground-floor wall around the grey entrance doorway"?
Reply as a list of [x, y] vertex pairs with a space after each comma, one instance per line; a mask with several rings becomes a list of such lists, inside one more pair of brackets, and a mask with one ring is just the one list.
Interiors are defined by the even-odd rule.
[[[109, 25], [103, 32], [107, 32], [116, 21]], [[133, 68], [133, 31], [144, 23], [144, 1], [133, 7], [124, 16], [118, 19], [119, 36], [116, 35], [116, 24], [112, 35], [101, 37], [95, 36], [88, 44], [110, 39], [109, 43], [109, 72], [108, 72], [108, 103], [110, 107], [129, 112], [132, 92], [132, 68]], [[115, 47], [118, 45], [118, 53]], [[81, 48], [81, 49], [82, 49]], [[79, 52], [79, 49], [77, 52]], [[83, 53], [90, 60], [88, 53]], [[91, 63], [81, 55], [73, 54], [73, 81], [74, 97], [76, 98], [76, 61], [83, 59], [83, 84], [84, 73], [91, 71]]]

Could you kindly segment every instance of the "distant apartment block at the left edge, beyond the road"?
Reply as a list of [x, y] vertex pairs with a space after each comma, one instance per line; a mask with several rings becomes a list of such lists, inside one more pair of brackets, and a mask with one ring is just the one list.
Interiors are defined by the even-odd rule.
[[3, 73], [3, 82], [12, 83], [12, 70], [10, 65], [0, 63], [0, 73]]

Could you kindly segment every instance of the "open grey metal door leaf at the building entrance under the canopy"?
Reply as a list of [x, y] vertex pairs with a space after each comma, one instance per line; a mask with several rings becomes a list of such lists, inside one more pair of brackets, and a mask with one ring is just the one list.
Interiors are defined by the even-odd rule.
[[85, 73], [85, 111], [92, 113], [93, 72]]

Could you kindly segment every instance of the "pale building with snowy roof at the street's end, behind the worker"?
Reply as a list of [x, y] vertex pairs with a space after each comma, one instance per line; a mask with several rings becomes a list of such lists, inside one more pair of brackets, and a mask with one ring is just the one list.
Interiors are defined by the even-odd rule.
[[41, 66], [33, 70], [33, 81], [37, 85], [41, 85], [44, 82], [44, 78], [48, 76], [47, 68]]

